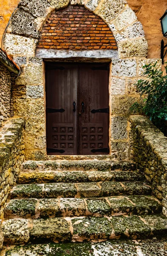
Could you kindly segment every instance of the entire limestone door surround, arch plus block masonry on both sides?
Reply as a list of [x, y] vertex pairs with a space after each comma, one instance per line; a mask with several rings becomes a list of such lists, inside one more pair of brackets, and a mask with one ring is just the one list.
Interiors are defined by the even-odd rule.
[[146, 59], [147, 41], [142, 24], [125, 0], [20, 1], [3, 45], [8, 54], [15, 56], [14, 60], [22, 64], [24, 70], [16, 81], [13, 94], [15, 116], [25, 117], [25, 157], [31, 160], [46, 159], [45, 67], [42, 58], [35, 58], [35, 52], [40, 31], [51, 12], [65, 8], [69, 3], [84, 6], [98, 15], [116, 39], [119, 58], [110, 59], [109, 146], [113, 159], [129, 159], [127, 119], [130, 106], [139, 99], [135, 82], [142, 77], [143, 64], [158, 61], [161, 66], [161, 62]]

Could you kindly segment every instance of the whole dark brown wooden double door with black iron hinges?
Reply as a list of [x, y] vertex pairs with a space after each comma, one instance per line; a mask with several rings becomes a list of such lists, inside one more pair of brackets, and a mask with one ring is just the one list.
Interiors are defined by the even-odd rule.
[[48, 154], [108, 154], [109, 64], [45, 67]]

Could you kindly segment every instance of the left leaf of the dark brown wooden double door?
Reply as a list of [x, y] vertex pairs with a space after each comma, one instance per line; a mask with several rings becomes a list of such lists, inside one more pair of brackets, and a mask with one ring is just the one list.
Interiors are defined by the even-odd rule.
[[[46, 109], [48, 154], [77, 154], [76, 113], [73, 111], [73, 102], [77, 102], [77, 74], [78, 68], [76, 65], [52, 63], [47, 65]], [[53, 113], [49, 113], [51, 109]], [[54, 110], [59, 109], [63, 109], [64, 112], [54, 113]], [[71, 133], [71, 131], [73, 132]], [[70, 136], [73, 136], [73, 140], [71, 140], [72, 137]], [[57, 140], [55, 140], [56, 138]]]

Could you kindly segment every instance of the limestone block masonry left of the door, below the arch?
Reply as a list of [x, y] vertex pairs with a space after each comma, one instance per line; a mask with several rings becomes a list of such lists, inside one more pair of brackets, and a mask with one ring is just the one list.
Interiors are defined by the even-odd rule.
[[45, 100], [42, 59], [17, 57], [24, 73], [16, 80], [12, 99], [14, 114], [25, 119], [25, 158], [45, 160]]

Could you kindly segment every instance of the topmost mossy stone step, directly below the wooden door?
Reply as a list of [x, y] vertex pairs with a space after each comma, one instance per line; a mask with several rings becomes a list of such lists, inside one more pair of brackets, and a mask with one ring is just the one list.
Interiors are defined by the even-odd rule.
[[51, 171], [51, 170], [97, 170], [110, 171], [120, 169], [122, 171], [136, 170], [136, 164], [131, 161], [111, 160], [46, 160], [26, 161], [22, 165], [22, 172]]

